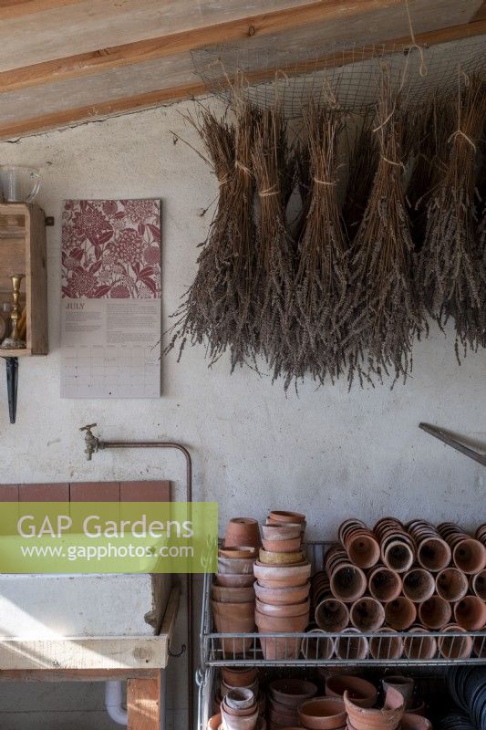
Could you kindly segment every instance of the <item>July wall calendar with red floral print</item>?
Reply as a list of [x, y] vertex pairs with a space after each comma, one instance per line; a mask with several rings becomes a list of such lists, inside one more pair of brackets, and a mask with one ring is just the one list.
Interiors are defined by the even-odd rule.
[[160, 201], [67, 200], [61, 397], [160, 397]]

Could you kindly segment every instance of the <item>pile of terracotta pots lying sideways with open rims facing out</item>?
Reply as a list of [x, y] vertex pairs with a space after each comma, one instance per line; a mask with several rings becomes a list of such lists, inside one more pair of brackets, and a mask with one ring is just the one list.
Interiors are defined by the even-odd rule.
[[[376, 659], [404, 653], [432, 659], [439, 651], [446, 658], [466, 658], [485, 651], [483, 642], [480, 647], [468, 636], [448, 634], [486, 628], [486, 526], [473, 538], [450, 523], [436, 528], [413, 520], [405, 527], [384, 517], [370, 530], [349, 519], [338, 535], [340, 544], [327, 551], [326, 569], [313, 577], [311, 594], [316, 626], [339, 633], [338, 657], [364, 659], [369, 652]], [[408, 631], [410, 638], [403, 641], [398, 631]], [[414, 641], [414, 634], [427, 631], [445, 635]], [[368, 643], [362, 633], [376, 637]]]

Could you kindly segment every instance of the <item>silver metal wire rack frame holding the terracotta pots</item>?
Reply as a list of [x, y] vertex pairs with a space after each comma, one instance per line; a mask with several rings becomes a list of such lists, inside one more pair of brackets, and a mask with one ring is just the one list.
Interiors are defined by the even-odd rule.
[[[326, 550], [332, 543], [328, 542], [308, 542], [305, 545], [307, 557], [312, 564], [313, 573], [320, 570], [324, 566], [324, 557]], [[401, 639], [404, 641], [413, 636], [415, 646], [419, 649], [423, 641], [430, 638], [444, 637], [440, 631], [423, 631], [411, 635], [408, 631], [397, 631], [390, 637], [387, 634], [377, 634], [376, 632], [359, 632], [349, 635], [345, 631], [337, 633], [322, 632], [315, 639], [319, 641], [332, 641], [336, 646], [336, 641], [346, 646], [346, 653], [333, 652], [329, 659], [317, 658], [306, 659], [300, 652], [295, 652], [295, 641], [300, 643], [308, 639], [306, 632], [301, 633], [218, 633], [212, 631], [212, 610], [211, 610], [211, 586], [212, 574], [204, 575], [204, 589], [202, 598], [202, 617], [201, 617], [201, 668], [196, 673], [196, 683], [199, 687], [199, 727], [204, 730], [207, 722], [210, 703], [212, 702], [211, 690], [213, 677], [218, 667], [222, 666], [254, 666], [254, 667], [291, 667], [294, 669], [309, 669], [316, 667], [332, 667], [332, 666], [348, 666], [348, 667], [450, 667], [458, 665], [485, 665], [486, 664], [486, 627], [482, 631], [467, 632], [450, 632], [450, 652], [449, 656], [440, 654], [439, 650], [431, 659], [409, 659], [407, 656], [394, 658], [390, 656], [390, 641]], [[460, 641], [470, 638], [473, 642], [473, 652], [467, 658], [454, 659], [452, 654], [454, 649], [460, 646]], [[237, 639], [247, 640], [249, 648], [243, 653], [235, 653], [228, 651], [228, 644]], [[282, 641], [284, 644], [284, 657], [276, 659], [265, 659], [264, 653], [260, 646], [260, 639], [266, 641], [274, 641], [274, 650], [276, 655], [282, 654]], [[362, 658], [352, 656], [352, 642], [366, 640], [367, 652]], [[224, 641], [224, 645], [222, 643]], [[277, 652], [277, 641], [279, 641], [279, 651]], [[370, 652], [369, 642], [373, 642], [373, 653]], [[457, 643], [456, 643], [457, 642]], [[223, 649], [224, 646], [224, 649]], [[388, 647], [388, 651], [387, 651]], [[288, 648], [288, 651], [287, 651]], [[295, 656], [296, 654], [296, 656]]]

